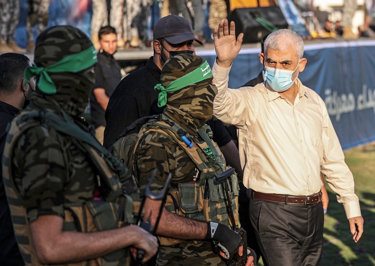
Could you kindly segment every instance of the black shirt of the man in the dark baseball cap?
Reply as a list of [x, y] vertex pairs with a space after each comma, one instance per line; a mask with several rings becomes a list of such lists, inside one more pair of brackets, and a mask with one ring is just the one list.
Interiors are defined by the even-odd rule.
[[[160, 68], [153, 62], [151, 56], [146, 65], [128, 76], [118, 84], [111, 95], [105, 111], [107, 127], [104, 131], [105, 148], [109, 148], [121, 132], [136, 119], [162, 113], [164, 107], [157, 106], [157, 98], [160, 91], [155, 91], [156, 84], [160, 81]], [[213, 131], [213, 140], [219, 147], [228, 144], [232, 140], [229, 131], [220, 120], [209, 120], [207, 122]], [[136, 128], [129, 133], [136, 133]]]

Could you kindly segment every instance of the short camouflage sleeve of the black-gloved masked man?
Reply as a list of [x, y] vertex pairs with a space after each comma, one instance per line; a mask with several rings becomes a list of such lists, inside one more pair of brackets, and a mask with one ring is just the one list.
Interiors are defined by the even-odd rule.
[[172, 187], [178, 183], [192, 181], [197, 176], [195, 164], [178, 144], [158, 132], [149, 132], [139, 143], [136, 151], [141, 195], [154, 168], [157, 172], [151, 190], [160, 192], [168, 173], [172, 173]]

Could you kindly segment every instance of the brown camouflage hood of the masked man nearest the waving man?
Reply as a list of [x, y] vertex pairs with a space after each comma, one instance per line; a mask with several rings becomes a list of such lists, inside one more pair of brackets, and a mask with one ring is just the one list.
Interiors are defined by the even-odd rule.
[[213, 100], [217, 88], [211, 84], [211, 68], [206, 63], [206, 60], [199, 56], [180, 54], [168, 59], [161, 73], [164, 87], [198, 68], [202, 68], [198, 71], [208, 74], [207, 79], [194, 84], [187, 82], [186, 87], [167, 93], [165, 115], [178, 122], [192, 136], [195, 136], [198, 129], [213, 115]]

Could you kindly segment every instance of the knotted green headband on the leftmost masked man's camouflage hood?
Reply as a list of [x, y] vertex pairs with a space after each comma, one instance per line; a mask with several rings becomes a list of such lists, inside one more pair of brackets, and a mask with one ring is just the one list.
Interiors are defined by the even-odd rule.
[[66, 56], [46, 68], [38, 67], [35, 64], [33, 66], [28, 66], [24, 71], [24, 76], [25, 80], [29, 80], [32, 76], [38, 76], [38, 88], [47, 94], [54, 94], [56, 93], [56, 87], [48, 73], [77, 73], [94, 65], [97, 61], [96, 51], [94, 46], [92, 46], [80, 53]]

